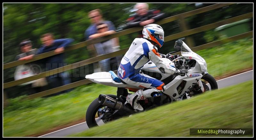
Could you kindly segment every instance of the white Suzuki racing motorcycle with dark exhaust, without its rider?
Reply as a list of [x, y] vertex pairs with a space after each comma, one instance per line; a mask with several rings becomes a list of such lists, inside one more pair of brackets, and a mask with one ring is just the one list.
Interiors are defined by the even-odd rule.
[[[185, 67], [187, 74], [185, 76], [163, 74], [151, 61], [145, 64], [141, 72], [164, 82], [166, 89], [162, 96], [139, 100], [144, 110], [161, 106], [165, 103], [189, 99], [196, 94], [218, 89], [216, 80], [207, 73], [206, 62], [201, 56], [193, 52], [181, 40], [175, 42], [174, 48], [177, 51], [181, 51], [182, 56], [172, 61], [163, 59], [165, 62], [174, 63], [178, 69]], [[138, 89], [141, 89], [140, 87], [124, 83], [112, 71], [89, 74], [85, 78], [95, 83], [117, 87], [117, 95], [100, 94], [99, 98], [92, 101], [85, 116], [89, 128], [100, 125], [99, 119], [107, 123], [137, 112], [131, 106], [124, 105], [124, 102], [126, 101], [126, 96], [131, 94], [128, 90], [136, 92]]]

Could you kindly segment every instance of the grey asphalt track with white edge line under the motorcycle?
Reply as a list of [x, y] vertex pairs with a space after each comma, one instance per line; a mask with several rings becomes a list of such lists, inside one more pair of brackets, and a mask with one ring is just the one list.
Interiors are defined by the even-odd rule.
[[[231, 85], [236, 85], [245, 81], [249, 81], [252, 79], [253, 79], [253, 70], [218, 80], [217, 83], [218, 83], [218, 88], [220, 89], [220, 88], [228, 87]], [[104, 124], [100, 119], [97, 120], [97, 123], [99, 125]], [[39, 137], [65, 137], [70, 134], [82, 132], [86, 129], [89, 129], [86, 122], [82, 122], [82, 123], [79, 123], [64, 129], [60, 129], [58, 131], [54, 131], [52, 133], [45, 134]]]

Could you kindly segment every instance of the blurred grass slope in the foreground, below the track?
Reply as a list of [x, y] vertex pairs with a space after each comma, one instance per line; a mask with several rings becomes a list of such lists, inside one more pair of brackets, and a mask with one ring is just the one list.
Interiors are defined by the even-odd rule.
[[190, 128], [252, 128], [252, 81], [209, 91], [94, 127], [73, 137], [181, 137]]

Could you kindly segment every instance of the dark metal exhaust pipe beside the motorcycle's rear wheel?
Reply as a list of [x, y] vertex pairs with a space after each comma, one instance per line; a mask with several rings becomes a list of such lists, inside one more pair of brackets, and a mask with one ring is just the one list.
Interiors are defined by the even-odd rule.
[[124, 106], [124, 104], [122, 102], [116, 101], [115, 99], [113, 99], [107, 95], [104, 95], [104, 94], [99, 95], [98, 101], [101, 105], [104, 105], [104, 106], [107, 106], [110, 108], [114, 108], [117, 110], [125, 110], [130, 113], [136, 112], [135, 110], [132, 110], [131, 108]]

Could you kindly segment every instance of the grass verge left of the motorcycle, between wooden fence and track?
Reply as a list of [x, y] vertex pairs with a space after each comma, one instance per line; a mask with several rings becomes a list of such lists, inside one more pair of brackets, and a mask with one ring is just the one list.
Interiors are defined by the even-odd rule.
[[21, 101], [11, 99], [4, 108], [4, 136], [28, 136], [81, 120], [99, 94], [115, 94], [116, 88], [84, 85], [70, 93]]

